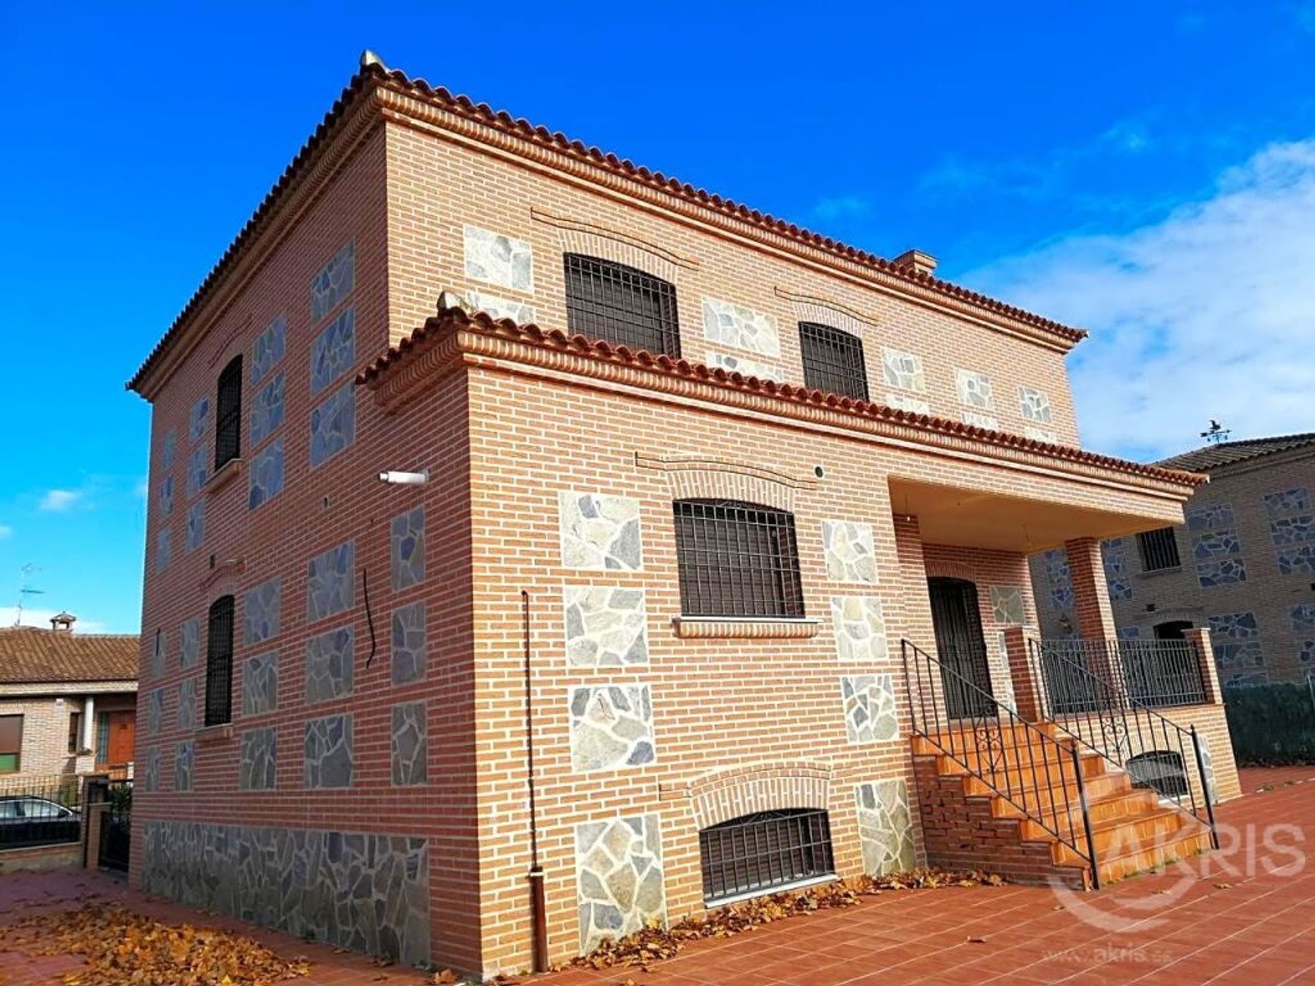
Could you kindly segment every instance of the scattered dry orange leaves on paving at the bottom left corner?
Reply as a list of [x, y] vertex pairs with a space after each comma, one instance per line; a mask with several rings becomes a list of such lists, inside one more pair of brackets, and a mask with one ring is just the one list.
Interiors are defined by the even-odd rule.
[[67, 973], [66, 986], [274, 986], [309, 973], [304, 958], [280, 958], [249, 937], [105, 903], [22, 918], [0, 928], [0, 948], [82, 956], [87, 969]]

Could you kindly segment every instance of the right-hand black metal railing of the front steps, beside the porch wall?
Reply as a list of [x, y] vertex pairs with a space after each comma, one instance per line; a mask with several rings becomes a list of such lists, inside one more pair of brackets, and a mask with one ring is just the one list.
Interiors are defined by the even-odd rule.
[[[1115, 647], [1110, 647], [1111, 643]], [[1215, 809], [1197, 727], [1178, 726], [1139, 698], [1137, 689], [1114, 680], [1114, 676], [1128, 674], [1126, 655], [1116, 642], [1032, 639], [1028, 651], [1041, 715], [1086, 749], [1127, 772], [1137, 786], [1153, 789], [1162, 801], [1206, 824], [1211, 844], [1218, 849]], [[1093, 663], [1103, 665], [1099, 672], [1091, 668]], [[1157, 753], [1176, 757], [1181, 774], [1172, 761], [1156, 757]], [[1201, 781], [1203, 809], [1187, 773], [1189, 756]]]

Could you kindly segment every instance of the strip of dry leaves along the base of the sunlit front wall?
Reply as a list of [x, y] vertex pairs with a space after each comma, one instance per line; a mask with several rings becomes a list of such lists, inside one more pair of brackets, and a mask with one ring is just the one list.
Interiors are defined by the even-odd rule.
[[698, 939], [723, 939], [750, 931], [759, 924], [768, 924], [781, 918], [797, 914], [828, 910], [831, 907], [851, 907], [864, 897], [872, 897], [888, 890], [919, 890], [947, 886], [999, 886], [1002, 877], [982, 870], [942, 870], [932, 868], [892, 873], [885, 877], [855, 877], [822, 883], [806, 890], [788, 890], [771, 897], [756, 897], [751, 901], [719, 907], [704, 915], [685, 918], [663, 928], [652, 924], [615, 941], [605, 941], [588, 956], [576, 958], [572, 965], [588, 969], [609, 969], [611, 966], [647, 966], [663, 958], [676, 956], [684, 943]]

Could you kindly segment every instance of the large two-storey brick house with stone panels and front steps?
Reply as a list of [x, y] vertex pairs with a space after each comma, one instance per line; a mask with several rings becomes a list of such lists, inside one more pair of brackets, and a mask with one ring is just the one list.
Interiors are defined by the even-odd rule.
[[[363, 58], [129, 383], [162, 642], [133, 881], [494, 973], [831, 874], [1116, 876], [1131, 802], [1139, 852], [1198, 848], [1045, 722], [1027, 559], [1068, 546], [1107, 642], [1099, 542], [1202, 477], [1080, 450], [1084, 333], [934, 266]], [[1231, 797], [1193, 646], [1165, 711]], [[1061, 805], [1091, 776], [1094, 839], [1022, 757]]]

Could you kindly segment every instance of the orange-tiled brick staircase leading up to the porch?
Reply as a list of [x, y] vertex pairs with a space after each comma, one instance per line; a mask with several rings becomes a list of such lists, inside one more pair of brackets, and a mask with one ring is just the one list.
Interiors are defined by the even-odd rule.
[[915, 735], [928, 862], [986, 869], [1016, 882], [1089, 887], [1211, 848], [1208, 826], [1191, 812], [1155, 790], [1134, 787], [1124, 770], [1081, 745], [1074, 759], [1073, 743], [1049, 722]]

